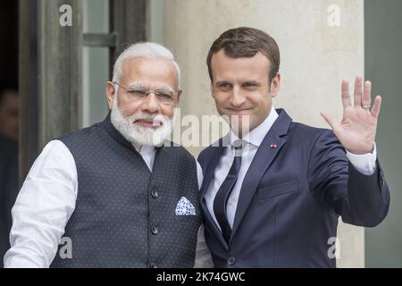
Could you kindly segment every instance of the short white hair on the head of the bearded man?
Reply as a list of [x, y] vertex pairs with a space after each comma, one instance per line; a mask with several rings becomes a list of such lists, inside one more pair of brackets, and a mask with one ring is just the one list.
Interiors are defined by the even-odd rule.
[[134, 57], [159, 58], [171, 61], [177, 71], [178, 87], [181, 87], [180, 67], [179, 64], [174, 61], [172, 52], [162, 45], [151, 42], [133, 44], [119, 55], [113, 66], [113, 82], [118, 82], [120, 80], [123, 63]]

